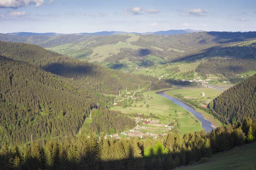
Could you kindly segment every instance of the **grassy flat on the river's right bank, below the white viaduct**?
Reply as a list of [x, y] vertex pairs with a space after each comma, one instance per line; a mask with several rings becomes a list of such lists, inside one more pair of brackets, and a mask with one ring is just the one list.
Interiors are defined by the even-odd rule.
[[[227, 90], [229, 87], [225, 87], [223, 89]], [[201, 96], [202, 92], [204, 92], [205, 96]], [[201, 102], [202, 105], [207, 105], [209, 102], [211, 102], [215, 96], [220, 95], [222, 92], [217, 91], [211, 88], [182, 88], [182, 89], [175, 89], [171, 91], [166, 91], [166, 94], [169, 96], [176, 96], [177, 94], [180, 94], [186, 99], [192, 99], [194, 101]], [[214, 126], [221, 126], [221, 122], [218, 121], [218, 119], [215, 119], [211, 114], [195, 108], [196, 111], [203, 114], [204, 118], [209, 120], [212, 125]]]

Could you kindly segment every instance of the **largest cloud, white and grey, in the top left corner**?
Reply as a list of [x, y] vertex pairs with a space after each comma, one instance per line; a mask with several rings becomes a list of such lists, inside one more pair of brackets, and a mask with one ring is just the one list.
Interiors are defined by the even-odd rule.
[[36, 7], [41, 6], [44, 0], [0, 0], [0, 8], [20, 8], [35, 4]]

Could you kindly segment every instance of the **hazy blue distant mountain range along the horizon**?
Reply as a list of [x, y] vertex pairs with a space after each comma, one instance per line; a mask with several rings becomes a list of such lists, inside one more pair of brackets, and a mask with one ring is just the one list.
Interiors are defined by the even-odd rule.
[[[139, 33], [139, 32], [123, 32], [123, 31], [101, 31], [101, 32], [93, 32], [93, 33], [77, 33], [75, 35], [98, 35], [98, 36], [104, 36], [104, 35], [117, 35], [117, 34], [159, 34], [159, 35], [172, 35], [172, 34], [188, 34], [188, 33], [194, 33], [194, 32], [203, 32], [203, 30], [192, 30], [192, 29], [184, 29], [184, 30], [168, 30], [168, 31], [157, 31], [157, 32], [145, 32], [145, 33]], [[34, 33], [34, 32], [13, 32], [13, 33], [7, 33], [8, 35], [16, 35], [16, 36], [33, 36], [33, 35], [47, 35], [47, 36], [56, 36], [61, 35], [59, 33], [54, 32], [48, 32], [48, 33]]]

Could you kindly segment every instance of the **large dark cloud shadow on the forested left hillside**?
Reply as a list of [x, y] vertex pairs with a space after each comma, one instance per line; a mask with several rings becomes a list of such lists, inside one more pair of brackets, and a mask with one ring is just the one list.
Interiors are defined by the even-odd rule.
[[90, 63], [50, 63], [44, 66], [43, 69], [66, 78], [79, 78], [96, 72], [96, 68], [93, 68]]

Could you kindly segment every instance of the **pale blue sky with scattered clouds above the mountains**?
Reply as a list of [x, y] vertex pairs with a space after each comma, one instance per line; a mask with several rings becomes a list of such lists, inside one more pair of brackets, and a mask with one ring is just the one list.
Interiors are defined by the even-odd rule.
[[256, 31], [256, 0], [0, 0], [0, 33]]

